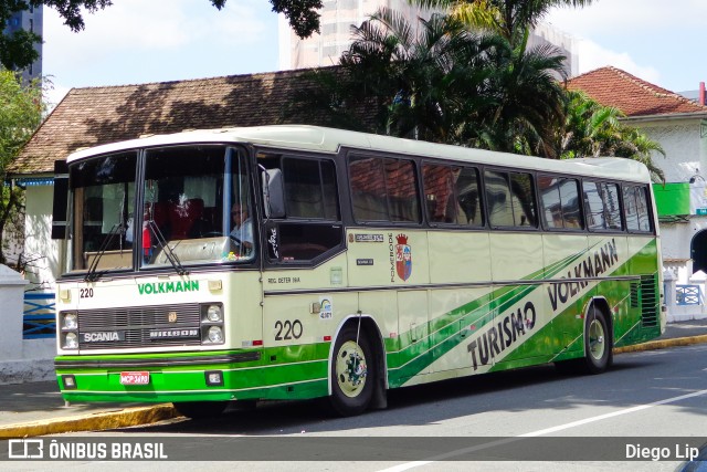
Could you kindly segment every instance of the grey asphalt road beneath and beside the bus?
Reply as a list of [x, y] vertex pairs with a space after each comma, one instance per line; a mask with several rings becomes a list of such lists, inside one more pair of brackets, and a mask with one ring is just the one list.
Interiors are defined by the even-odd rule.
[[[706, 419], [707, 345], [701, 344], [622, 354], [600, 376], [562, 377], [547, 366], [400, 389], [390, 392], [387, 410], [355, 418], [333, 418], [319, 401], [278, 402], [213, 420], [60, 439], [163, 442], [171, 459], [194, 460], [179, 462], [179, 469], [200, 471], [672, 471], [682, 461], [680, 448], [707, 441]], [[668, 452], [661, 461], [624, 462], [627, 444]], [[210, 459], [241, 461], [205, 462]], [[466, 459], [473, 461], [462, 462]], [[168, 471], [175, 464], [130, 462], [129, 468]], [[51, 465], [93, 471], [96, 463]], [[126, 466], [101, 464], [105, 471]]]

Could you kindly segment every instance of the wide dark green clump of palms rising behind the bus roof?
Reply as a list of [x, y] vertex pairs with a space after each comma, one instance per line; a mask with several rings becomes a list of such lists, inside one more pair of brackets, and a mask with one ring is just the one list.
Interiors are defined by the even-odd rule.
[[381, 10], [354, 28], [340, 69], [313, 74], [320, 91], [303, 94], [298, 109], [333, 126], [555, 157], [563, 57], [549, 46], [514, 50], [447, 15], [419, 21], [413, 34]]

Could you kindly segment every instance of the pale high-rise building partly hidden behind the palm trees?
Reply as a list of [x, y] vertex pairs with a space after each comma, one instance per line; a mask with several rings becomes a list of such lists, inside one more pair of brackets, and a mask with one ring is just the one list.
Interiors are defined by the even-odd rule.
[[[300, 40], [279, 15], [279, 69], [306, 69], [336, 65], [341, 53], [351, 44], [351, 25], [360, 25], [380, 8], [394, 10], [415, 28], [416, 19], [430, 18], [431, 10], [412, 7], [407, 0], [324, 0], [320, 10], [320, 33]], [[548, 24], [539, 25], [529, 44], [551, 43], [567, 56], [566, 67], [570, 76], [577, 75], [578, 63], [574, 40]]]

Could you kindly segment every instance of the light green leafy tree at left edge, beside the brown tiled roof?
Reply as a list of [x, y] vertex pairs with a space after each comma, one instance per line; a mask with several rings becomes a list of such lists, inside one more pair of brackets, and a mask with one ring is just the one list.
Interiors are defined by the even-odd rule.
[[[6, 182], [7, 166], [18, 156], [42, 120], [44, 105], [38, 82], [22, 85], [20, 77], [0, 70], [0, 182]], [[21, 190], [12, 186], [0, 187], [0, 241], [6, 227], [21, 201]], [[0, 263], [6, 262], [0, 244]]]

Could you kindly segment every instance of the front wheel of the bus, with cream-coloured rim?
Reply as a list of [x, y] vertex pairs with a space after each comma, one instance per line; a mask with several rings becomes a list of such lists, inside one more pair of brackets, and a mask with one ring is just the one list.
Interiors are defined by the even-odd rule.
[[344, 417], [362, 413], [371, 402], [377, 371], [373, 352], [365, 329], [357, 337], [357, 325], [346, 326], [336, 339], [331, 358], [334, 410]]

